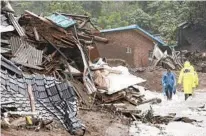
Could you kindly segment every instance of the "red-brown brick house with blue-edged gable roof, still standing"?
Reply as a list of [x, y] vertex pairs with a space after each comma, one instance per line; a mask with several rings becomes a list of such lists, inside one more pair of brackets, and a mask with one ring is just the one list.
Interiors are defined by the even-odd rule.
[[[149, 65], [149, 55], [154, 45], [163, 48], [164, 42], [149, 34], [138, 25], [115, 29], [101, 30], [101, 36], [109, 42], [97, 43], [96, 49], [100, 57], [125, 60], [131, 67], [146, 67]], [[96, 54], [98, 54], [96, 53]]]

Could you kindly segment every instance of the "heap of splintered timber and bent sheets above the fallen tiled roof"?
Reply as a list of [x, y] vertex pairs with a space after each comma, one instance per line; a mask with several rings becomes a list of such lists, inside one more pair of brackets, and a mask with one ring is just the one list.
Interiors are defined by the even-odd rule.
[[11, 27], [14, 28], [6, 27], [1, 33], [4, 57], [23, 72], [60, 80], [76, 78], [89, 94], [96, 91], [89, 51], [95, 41], [106, 43], [108, 40], [98, 36], [99, 31], [88, 16], [55, 13], [42, 17], [25, 11], [18, 20], [10, 12], [5, 12], [4, 17], [13, 22]]

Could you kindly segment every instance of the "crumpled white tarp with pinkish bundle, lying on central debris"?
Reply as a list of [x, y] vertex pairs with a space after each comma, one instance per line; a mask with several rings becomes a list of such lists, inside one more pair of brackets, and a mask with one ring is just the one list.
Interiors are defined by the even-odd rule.
[[109, 67], [105, 62], [100, 59], [96, 64], [91, 65], [93, 68], [103, 68], [96, 70], [95, 83], [100, 87], [104, 87], [107, 90], [107, 94], [113, 94], [128, 88], [129, 86], [145, 82], [146, 80], [136, 77], [129, 73], [127, 67]]

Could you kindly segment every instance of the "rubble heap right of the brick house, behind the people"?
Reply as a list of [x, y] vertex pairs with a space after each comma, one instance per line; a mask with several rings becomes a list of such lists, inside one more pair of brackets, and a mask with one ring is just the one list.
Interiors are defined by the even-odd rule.
[[[190, 61], [195, 66], [198, 72], [206, 72], [206, 53], [205, 52], [189, 52], [187, 50], [175, 51], [171, 48], [172, 54], [168, 55], [167, 52], [162, 52], [156, 45], [152, 55], [152, 66], [162, 66], [163, 68], [170, 68], [172, 70], [180, 70], [185, 61]], [[137, 69], [136, 71], [142, 71]]]

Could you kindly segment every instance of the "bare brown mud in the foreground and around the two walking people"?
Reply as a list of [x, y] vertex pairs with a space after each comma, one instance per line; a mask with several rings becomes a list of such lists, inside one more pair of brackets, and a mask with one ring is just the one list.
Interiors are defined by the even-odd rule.
[[[161, 77], [165, 72], [164, 69], [136, 73], [137, 76], [147, 80], [146, 83], [142, 84], [151, 91], [162, 90], [161, 88]], [[178, 72], [175, 72], [179, 75]], [[198, 73], [199, 75], [199, 87], [197, 90], [206, 91], [206, 73]], [[177, 76], [178, 77], [178, 76]], [[78, 117], [82, 120], [83, 124], [86, 125], [87, 131], [85, 136], [127, 136], [129, 131], [128, 119], [120, 119], [120, 117], [114, 115], [111, 112], [105, 110], [80, 110]], [[64, 129], [52, 128], [51, 130], [41, 130], [35, 132], [33, 130], [16, 130], [7, 129], [1, 130], [2, 136], [70, 136]]]

